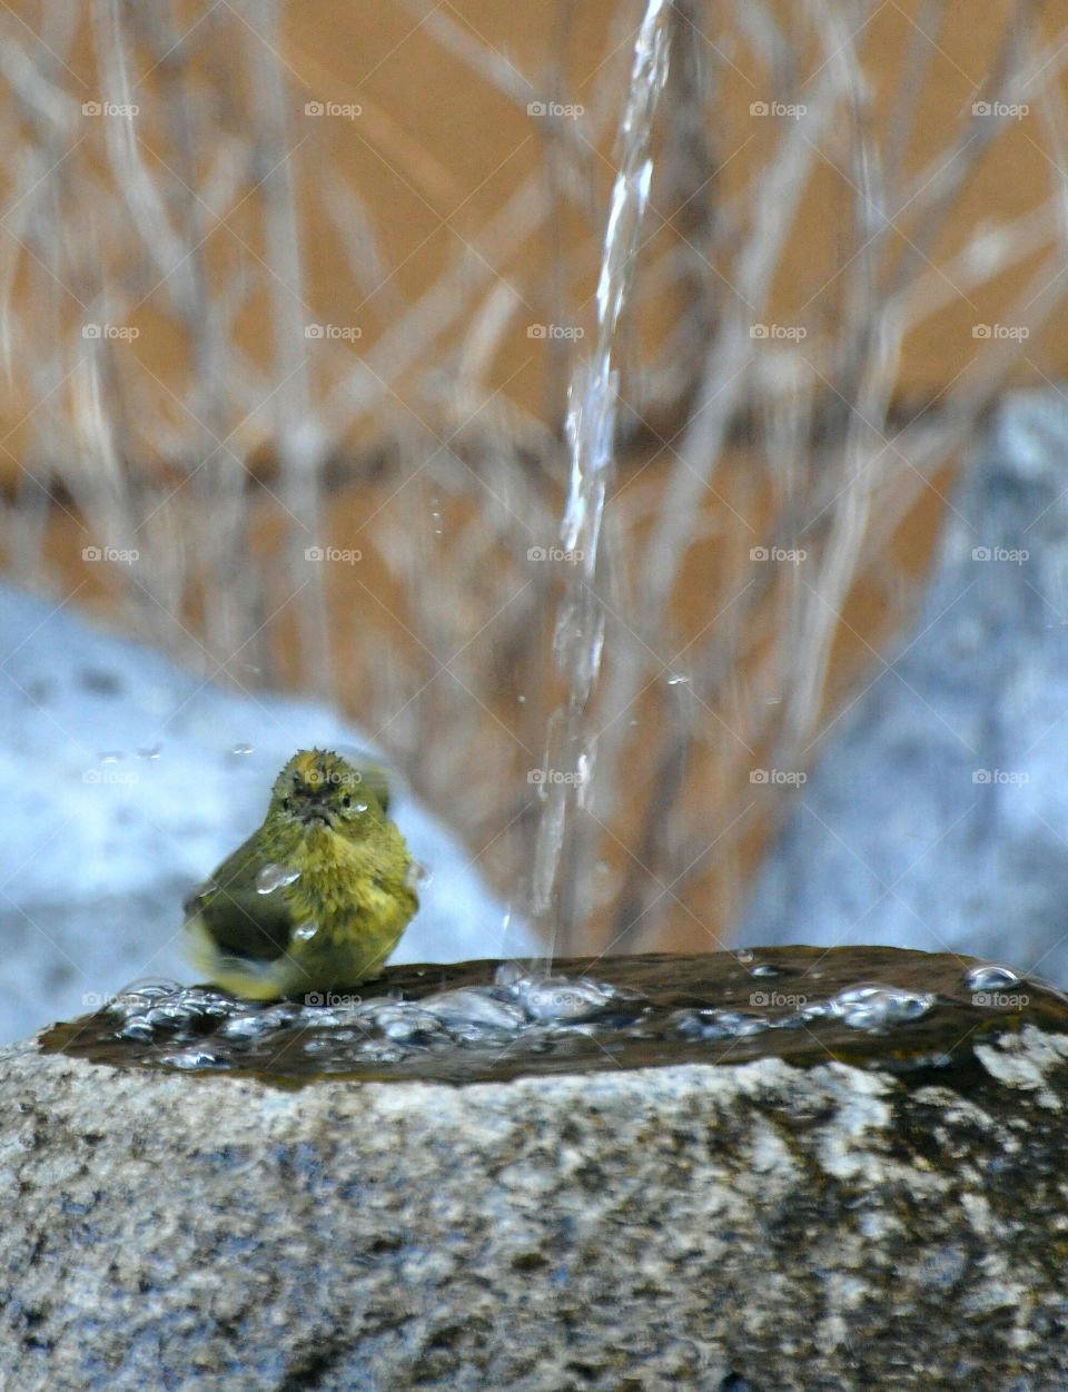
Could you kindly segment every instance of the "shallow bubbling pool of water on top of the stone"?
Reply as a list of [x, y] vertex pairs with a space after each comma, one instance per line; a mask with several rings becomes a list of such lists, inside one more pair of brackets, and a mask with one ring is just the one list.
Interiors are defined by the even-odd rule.
[[749, 958], [578, 959], [550, 976], [514, 962], [395, 966], [362, 994], [267, 1005], [149, 981], [54, 1026], [42, 1045], [116, 1066], [227, 1069], [280, 1083], [471, 1083], [767, 1057], [920, 1076], [940, 1069], [951, 1080], [957, 1065], [975, 1063], [976, 1044], [1007, 1031], [1068, 1033], [1060, 991], [1018, 977], [1025, 991], [977, 999], [969, 983], [1008, 969], [952, 954], [760, 948]]

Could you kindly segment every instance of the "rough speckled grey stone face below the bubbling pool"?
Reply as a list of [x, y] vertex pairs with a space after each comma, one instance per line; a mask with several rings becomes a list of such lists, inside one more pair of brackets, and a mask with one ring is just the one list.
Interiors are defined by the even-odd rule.
[[1068, 1038], [317, 1083], [0, 1054], [0, 1385], [1068, 1386]]

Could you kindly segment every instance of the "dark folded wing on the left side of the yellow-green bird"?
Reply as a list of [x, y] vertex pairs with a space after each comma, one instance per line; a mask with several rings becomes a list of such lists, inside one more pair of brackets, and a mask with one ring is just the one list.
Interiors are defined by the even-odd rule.
[[290, 944], [292, 917], [283, 888], [260, 894], [256, 877], [265, 866], [255, 835], [228, 856], [212, 878], [185, 901], [185, 912], [199, 913], [224, 952], [272, 960]]

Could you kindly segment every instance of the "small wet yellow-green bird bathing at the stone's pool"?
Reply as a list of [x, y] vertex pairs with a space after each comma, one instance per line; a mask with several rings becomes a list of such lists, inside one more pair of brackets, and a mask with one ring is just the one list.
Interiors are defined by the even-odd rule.
[[194, 965], [255, 1001], [377, 976], [419, 908], [418, 867], [388, 806], [380, 768], [294, 754], [263, 825], [185, 901]]

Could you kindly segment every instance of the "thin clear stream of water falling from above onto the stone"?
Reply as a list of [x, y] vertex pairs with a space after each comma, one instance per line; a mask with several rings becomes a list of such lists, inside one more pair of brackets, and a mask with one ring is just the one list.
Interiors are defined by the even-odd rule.
[[613, 348], [634, 283], [638, 235], [649, 202], [653, 120], [667, 78], [670, 35], [671, 0], [649, 0], [635, 42], [631, 85], [620, 124], [620, 167], [597, 280], [596, 340], [568, 393], [571, 476], [561, 543], [575, 557], [575, 564], [570, 568], [553, 636], [557, 668], [568, 685], [568, 696], [549, 725], [546, 767], [575, 777], [546, 789], [531, 894], [533, 917], [549, 930], [550, 958], [574, 941], [589, 901], [579, 881], [590, 863], [586, 844], [592, 820], [582, 813], [589, 803], [589, 778], [596, 757], [588, 707], [604, 646], [604, 611], [596, 580], [618, 411]]

